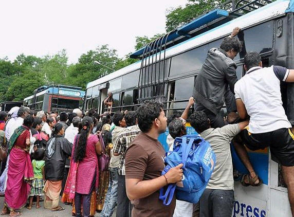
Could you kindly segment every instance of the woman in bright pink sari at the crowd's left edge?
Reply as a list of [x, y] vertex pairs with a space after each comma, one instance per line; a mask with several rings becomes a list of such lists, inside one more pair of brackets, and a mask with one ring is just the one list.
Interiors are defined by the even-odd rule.
[[30, 185], [34, 178], [32, 163], [30, 159], [30, 128], [34, 118], [28, 115], [24, 123], [16, 128], [9, 140], [9, 169], [7, 172], [7, 187], [5, 191], [3, 214], [9, 216], [20, 216], [20, 212], [15, 210], [21, 209], [26, 205]]

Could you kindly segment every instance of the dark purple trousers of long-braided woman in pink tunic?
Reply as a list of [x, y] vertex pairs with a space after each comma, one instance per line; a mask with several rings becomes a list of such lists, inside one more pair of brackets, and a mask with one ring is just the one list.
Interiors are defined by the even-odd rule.
[[83, 198], [83, 216], [84, 217], [90, 216], [91, 195], [92, 195], [92, 192], [95, 190], [95, 184], [96, 184], [96, 173], [94, 175], [94, 180], [91, 185], [90, 192], [88, 194], [79, 194], [76, 192], [76, 194], [75, 194], [75, 207], [76, 207], [76, 216], [77, 217], [82, 216], [82, 210], [81, 210], [82, 198]]

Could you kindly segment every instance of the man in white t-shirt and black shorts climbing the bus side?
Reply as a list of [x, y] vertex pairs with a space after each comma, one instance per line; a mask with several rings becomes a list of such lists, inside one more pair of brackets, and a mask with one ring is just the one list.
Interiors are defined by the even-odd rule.
[[[250, 150], [269, 147], [272, 160], [282, 165], [294, 214], [294, 135], [282, 106], [280, 91], [281, 81], [294, 82], [294, 70], [281, 66], [262, 68], [261, 57], [257, 52], [247, 53], [244, 62], [246, 74], [235, 84], [235, 98], [240, 117], [249, 115], [250, 122], [241, 137]], [[249, 159], [245, 147], [235, 148], [248, 169]], [[254, 177], [249, 174], [244, 177], [244, 182], [250, 183], [252, 179]]]

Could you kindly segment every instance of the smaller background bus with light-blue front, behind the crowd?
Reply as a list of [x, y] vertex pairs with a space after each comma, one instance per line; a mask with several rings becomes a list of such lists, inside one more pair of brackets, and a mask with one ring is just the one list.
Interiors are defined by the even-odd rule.
[[72, 112], [82, 108], [85, 91], [82, 87], [67, 85], [45, 85], [34, 90], [33, 95], [24, 99], [24, 105], [31, 110], [44, 112]]

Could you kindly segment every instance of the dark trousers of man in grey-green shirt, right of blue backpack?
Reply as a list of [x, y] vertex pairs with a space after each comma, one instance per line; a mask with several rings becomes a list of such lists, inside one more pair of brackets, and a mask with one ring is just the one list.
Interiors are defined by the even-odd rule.
[[233, 190], [205, 189], [200, 197], [200, 217], [232, 216]]

